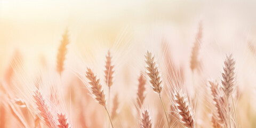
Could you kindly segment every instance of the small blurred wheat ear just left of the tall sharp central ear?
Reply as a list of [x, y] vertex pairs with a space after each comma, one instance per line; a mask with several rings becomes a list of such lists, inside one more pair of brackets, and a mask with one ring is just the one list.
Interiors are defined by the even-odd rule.
[[138, 85], [138, 92], [137, 92], [137, 96], [138, 96], [137, 104], [138, 104], [139, 108], [141, 108], [141, 106], [143, 105], [144, 99], [145, 99], [145, 95], [144, 95], [144, 92], [146, 90], [145, 84], [146, 84], [146, 79], [141, 74], [140, 78], [139, 78], [139, 85]]

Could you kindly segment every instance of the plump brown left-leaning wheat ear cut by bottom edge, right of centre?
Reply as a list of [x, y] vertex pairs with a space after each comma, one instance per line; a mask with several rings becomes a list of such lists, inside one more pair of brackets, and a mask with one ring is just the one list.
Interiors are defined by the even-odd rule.
[[177, 108], [177, 114], [180, 116], [181, 123], [186, 127], [193, 128], [195, 124], [193, 111], [186, 95], [177, 92], [174, 94], [174, 97], [175, 107]]

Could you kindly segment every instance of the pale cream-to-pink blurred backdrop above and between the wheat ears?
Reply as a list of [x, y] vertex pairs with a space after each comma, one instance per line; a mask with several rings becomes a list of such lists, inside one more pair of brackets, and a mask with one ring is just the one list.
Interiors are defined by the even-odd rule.
[[[110, 49], [115, 63], [113, 90], [131, 94], [119, 94], [120, 99], [125, 101], [121, 103], [121, 109], [129, 110], [126, 104], [135, 97], [132, 95], [137, 90], [138, 76], [144, 70], [145, 52], [155, 53], [159, 67], [165, 70], [161, 66], [164, 61], [163, 42], [170, 46], [168, 49], [175, 65], [183, 68], [188, 79], [185, 83], [196, 79], [191, 75], [189, 61], [199, 23], [202, 23], [199, 60], [203, 60], [204, 78], [220, 78], [225, 55], [233, 53], [237, 60], [237, 77], [241, 78], [238, 85], [246, 83], [253, 86], [256, 74], [251, 69], [255, 69], [253, 65], [256, 61], [247, 43], [256, 46], [255, 6], [256, 1], [249, 0], [0, 0], [0, 72], [5, 75], [12, 57], [17, 54], [22, 57], [27, 73], [35, 74], [42, 63], [54, 69], [62, 34], [68, 30], [70, 44], [65, 61], [66, 74], [62, 77], [70, 78], [70, 74], [75, 77], [74, 72], [89, 66], [93, 67], [103, 83], [105, 55]], [[244, 77], [246, 79], [242, 79]], [[199, 83], [203, 83], [198, 79]], [[66, 81], [71, 83], [72, 80]], [[148, 97], [155, 98], [149, 86], [147, 90], [151, 94]], [[253, 91], [255, 93], [255, 86]], [[153, 101], [148, 98], [146, 102]], [[123, 112], [123, 116], [127, 115]], [[129, 127], [127, 122], [123, 127]], [[203, 125], [199, 119], [198, 122]], [[244, 126], [252, 126], [249, 124]]]

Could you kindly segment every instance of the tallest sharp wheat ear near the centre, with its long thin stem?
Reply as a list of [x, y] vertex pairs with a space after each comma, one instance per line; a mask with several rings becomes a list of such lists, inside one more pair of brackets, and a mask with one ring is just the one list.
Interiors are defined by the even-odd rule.
[[159, 76], [159, 71], [158, 71], [158, 68], [156, 66], [156, 62], [154, 62], [154, 56], [152, 56], [152, 54], [147, 51], [147, 53], [145, 55], [145, 58], [146, 58], [146, 63], [147, 63], [146, 68], [148, 70], [147, 75], [150, 78], [151, 88], [156, 93], [158, 93], [158, 95], [159, 95], [159, 99], [161, 100], [161, 103], [162, 103], [162, 107], [163, 107], [164, 114], [165, 114], [165, 117], [166, 117], [166, 120], [167, 120], [167, 124], [170, 128], [169, 119], [168, 119], [168, 116], [166, 114], [164, 103], [163, 103], [163, 100], [162, 100], [162, 97], [161, 97], [161, 91], [163, 89], [163, 86], [161, 85], [162, 81], [161, 81], [161, 77]]

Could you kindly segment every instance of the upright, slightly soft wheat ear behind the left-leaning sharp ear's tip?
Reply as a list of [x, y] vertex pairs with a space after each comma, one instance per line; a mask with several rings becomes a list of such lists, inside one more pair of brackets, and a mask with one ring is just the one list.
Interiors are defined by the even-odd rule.
[[105, 72], [105, 78], [106, 78], [106, 84], [108, 85], [108, 87], [110, 87], [111, 85], [113, 85], [113, 73], [114, 73], [114, 66], [111, 65], [111, 56], [110, 56], [110, 51], [108, 51], [108, 54], [106, 55], [106, 70]]

